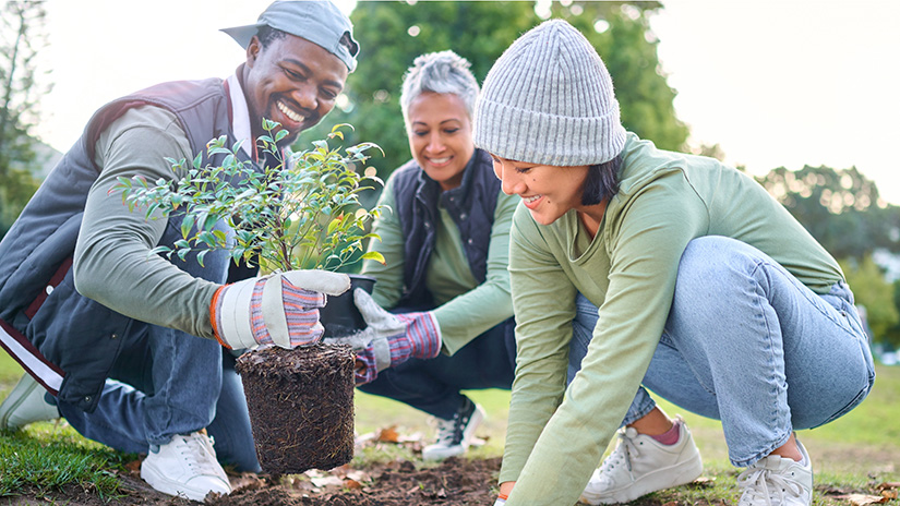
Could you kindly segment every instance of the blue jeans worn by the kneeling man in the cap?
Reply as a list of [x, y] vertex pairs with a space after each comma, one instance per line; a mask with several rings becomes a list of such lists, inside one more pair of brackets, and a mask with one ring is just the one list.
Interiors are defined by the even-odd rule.
[[128, 345], [94, 412], [58, 402], [80, 434], [121, 451], [146, 454], [175, 434], [206, 427], [220, 462], [260, 471], [243, 385], [228, 350], [154, 325], [129, 336]]

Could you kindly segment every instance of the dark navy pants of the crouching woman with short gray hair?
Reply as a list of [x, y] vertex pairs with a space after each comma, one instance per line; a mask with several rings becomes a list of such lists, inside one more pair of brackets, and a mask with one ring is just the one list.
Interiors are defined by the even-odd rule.
[[515, 321], [508, 318], [476, 337], [452, 357], [410, 359], [379, 373], [360, 390], [405, 402], [449, 420], [463, 405], [461, 389], [513, 386], [516, 366]]

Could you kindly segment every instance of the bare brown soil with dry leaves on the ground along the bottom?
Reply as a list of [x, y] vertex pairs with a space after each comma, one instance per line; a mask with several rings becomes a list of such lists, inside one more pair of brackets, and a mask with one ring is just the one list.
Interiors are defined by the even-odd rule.
[[[419, 461], [421, 466], [421, 461]], [[44, 496], [25, 493], [17, 497], [0, 498], [0, 506], [48, 505], [68, 506], [190, 506], [188, 499], [161, 494], [140, 475], [140, 461], [135, 460], [122, 473], [122, 496], [104, 501], [96, 491], [68, 485], [61, 491]], [[374, 462], [363, 468], [344, 466], [328, 472], [308, 471], [302, 475], [273, 478], [269, 475], [231, 475], [235, 491], [228, 496], [206, 497], [211, 506], [489, 506], [496, 498], [493, 486], [500, 471], [500, 458], [451, 458], [422, 468], [408, 460]], [[704, 489], [711, 487], [715, 478], [701, 477], [692, 484], [651, 494], [631, 503], [629, 506], [727, 506], [730, 502], [706, 498]], [[872, 482], [860, 490], [816, 485], [817, 505], [874, 506], [897, 502], [900, 483]], [[699, 495], [698, 495], [699, 493]], [[875, 494], [875, 495], [873, 495]]]

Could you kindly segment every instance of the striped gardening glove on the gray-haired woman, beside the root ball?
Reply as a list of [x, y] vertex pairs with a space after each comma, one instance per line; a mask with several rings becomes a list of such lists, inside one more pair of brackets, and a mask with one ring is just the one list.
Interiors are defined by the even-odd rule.
[[410, 358], [433, 359], [441, 352], [441, 327], [434, 313], [392, 314], [365, 290], [353, 290], [353, 303], [365, 321], [364, 330], [326, 342], [350, 345], [357, 351], [356, 383], [369, 383], [387, 368]]

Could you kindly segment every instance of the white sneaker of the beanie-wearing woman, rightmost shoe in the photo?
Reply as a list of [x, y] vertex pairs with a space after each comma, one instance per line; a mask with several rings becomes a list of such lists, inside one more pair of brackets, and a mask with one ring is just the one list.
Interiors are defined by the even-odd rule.
[[813, 462], [796, 442], [803, 461], [769, 455], [737, 474], [744, 489], [737, 506], [809, 506], [813, 504]]

